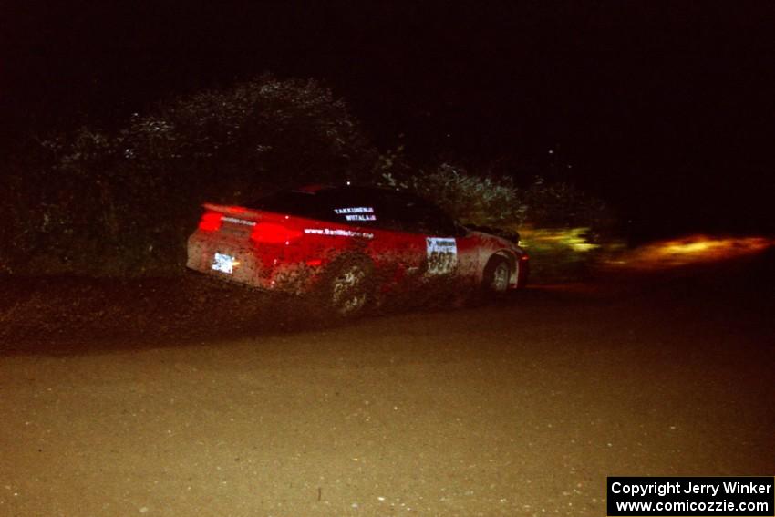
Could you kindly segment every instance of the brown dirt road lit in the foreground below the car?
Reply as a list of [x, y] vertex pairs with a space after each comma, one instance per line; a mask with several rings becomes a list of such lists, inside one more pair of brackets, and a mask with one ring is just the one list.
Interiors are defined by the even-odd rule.
[[7, 280], [0, 515], [599, 516], [608, 475], [772, 475], [768, 261], [346, 326]]

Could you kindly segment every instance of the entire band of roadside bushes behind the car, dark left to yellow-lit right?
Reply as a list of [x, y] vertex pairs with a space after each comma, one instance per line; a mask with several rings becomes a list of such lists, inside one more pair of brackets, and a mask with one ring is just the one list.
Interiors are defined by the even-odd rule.
[[[401, 148], [379, 155], [346, 103], [311, 79], [265, 75], [168, 98], [117, 126], [30, 140], [6, 163], [0, 189], [13, 196], [0, 206], [0, 272], [179, 274], [202, 202], [240, 204], [305, 183], [408, 189], [460, 222], [521, 232], [538, 274], [593, 260], [613, 220], [562, 181], [520, 184], [518, 170], [448, 162], [418, 170]], [[528, 238], [531, 228], [544, 233]]]

